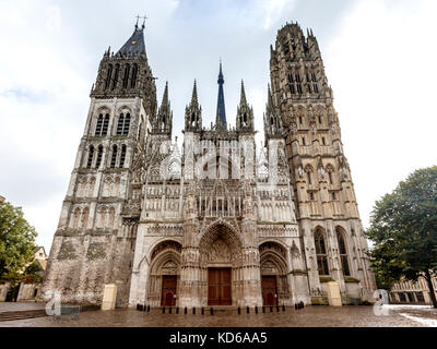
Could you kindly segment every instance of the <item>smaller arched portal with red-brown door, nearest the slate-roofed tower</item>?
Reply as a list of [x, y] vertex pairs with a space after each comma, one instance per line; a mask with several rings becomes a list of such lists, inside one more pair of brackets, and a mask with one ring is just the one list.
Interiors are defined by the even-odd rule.
[[180, 243], [169, 240], [153, 249], [147, 286], [147, 303], [152, 306], [177, 304], [180, 251]]

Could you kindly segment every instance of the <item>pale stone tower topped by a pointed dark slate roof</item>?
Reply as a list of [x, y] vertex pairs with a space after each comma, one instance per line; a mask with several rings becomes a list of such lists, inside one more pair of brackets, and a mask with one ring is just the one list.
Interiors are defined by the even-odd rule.
[[63, 302], [99, 303], [105, 284], [117, 284], [118, 305], [128, 299], [150, 120], [153, 132], [172, 132], [165, 103], [158, 113], [164, 123], [155, 120], [143, 29], [135, 25], [117, 53], [104, 53], [91, 91], [44, 281], [44, 291], [60, 291]]

